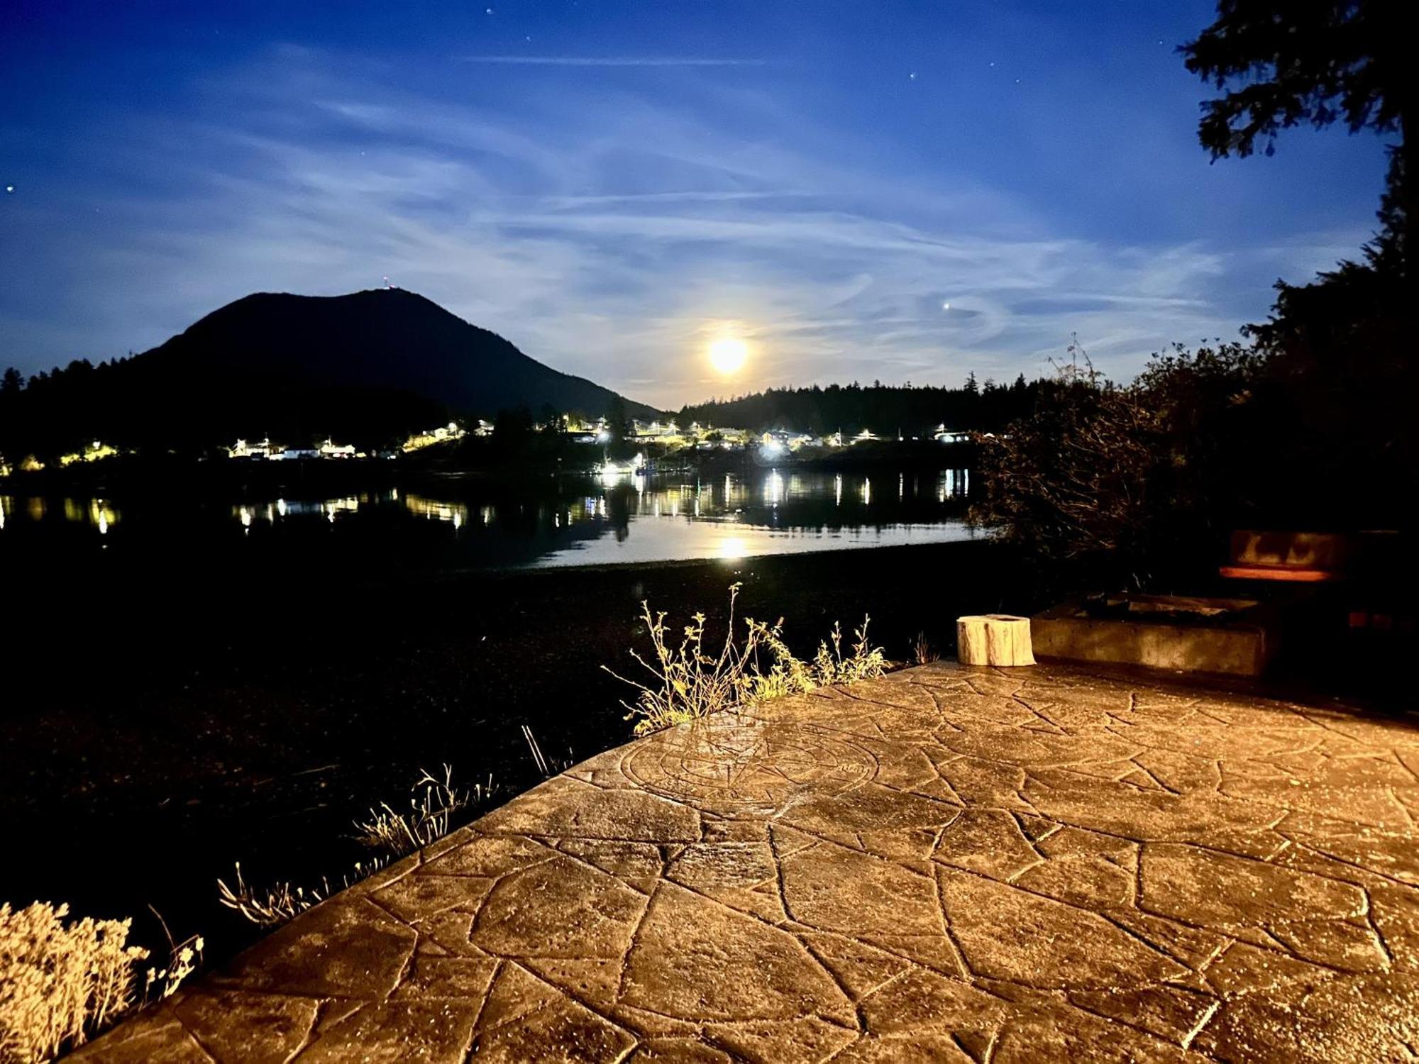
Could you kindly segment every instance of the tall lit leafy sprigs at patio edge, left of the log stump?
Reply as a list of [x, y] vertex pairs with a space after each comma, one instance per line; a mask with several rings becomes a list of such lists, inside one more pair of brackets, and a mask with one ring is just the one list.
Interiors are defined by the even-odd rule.
[[[880, 677], [887, 670], [881, 647], [867, 638], [864, 617], [853, 631], [853, 643], [843, 650], [843, 630], [833, 624], [827, 640], [817, 645], [812, 660], [795, 657], [783, 641], [783, 619], [773, 624], [745, 619], [742, 640], [735, 638], [735, 609], [739, 584], [729, 586], [729, 619], [718, 651], [707, 647], [705, 614], [695, 613], [674, 641], [666, 611], [651, 613], [643, 602], [641, 620], [650, 636], [653, 660], [631, 648], [631, 658], [648, 674], [643, 682], [630, 680], [607, 665], [603, 670], [639, 692], [626, 706], [626, 719], [636, 721], [636, 735], [695, 721], [722, 709], [756, 706], [792, 694], [803, 694], [832, 684]], [[832, 645], [829, 645], [832, 643]]]

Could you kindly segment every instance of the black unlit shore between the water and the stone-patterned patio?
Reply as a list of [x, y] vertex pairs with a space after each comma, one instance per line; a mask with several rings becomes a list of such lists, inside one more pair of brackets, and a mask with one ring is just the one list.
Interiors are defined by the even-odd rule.
[[[788, 619], [809, 653], [834, 619], [873, 616], [895, 660], [918, 631], [951, 648], [966, 611], [1032, 609], [983, 543], [658, 567], [458, 577], [190, 565], [54, 573], [11, 566], [0, 695], [0, 899], [201, 932], [209, 956], [251, 938], [216, 901], [241, 861], [253, 882], [338, 878], [373, 803], [402, 806], [420, 769], [451, 763], [507, 800], [539, 773], [630, 738], [600, 665], [646, 650], [639, 603], [671, 620]], [[722, 627], [717, 628], [722, 633]]]

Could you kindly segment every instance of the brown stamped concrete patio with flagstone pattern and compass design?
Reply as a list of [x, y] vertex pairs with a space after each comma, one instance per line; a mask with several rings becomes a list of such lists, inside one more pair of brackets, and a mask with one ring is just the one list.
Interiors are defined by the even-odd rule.
[[1413, 1060], [1419, 715], [929, 665], [603, 753], [85, 1061]]

